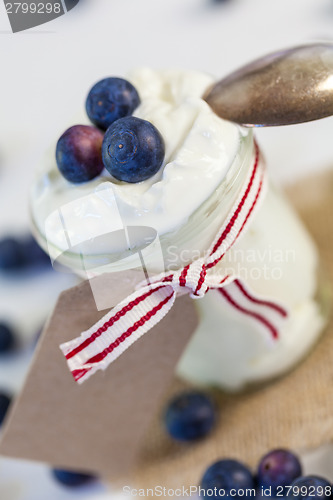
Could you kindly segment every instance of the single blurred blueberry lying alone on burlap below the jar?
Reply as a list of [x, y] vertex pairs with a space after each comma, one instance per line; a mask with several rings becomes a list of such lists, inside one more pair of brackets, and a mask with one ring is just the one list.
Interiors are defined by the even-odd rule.
[[174, 398], [165, 412], [165, 425], [177, 441], [193, 441], [206, 436], [215, 423], [214, 405], [200, 392], [187, 392]]

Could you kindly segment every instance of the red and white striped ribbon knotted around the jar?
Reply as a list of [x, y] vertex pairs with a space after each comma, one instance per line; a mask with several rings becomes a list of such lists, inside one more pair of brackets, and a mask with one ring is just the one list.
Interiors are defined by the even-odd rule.
[[221, 227], [206, 257], [195, 260], [176, 272], [162, 273], [120, 302], [100, 321], [78, 338], [60, 346], [74, 379], [82, 383], [97, 370], [105, 370], [130, 345], [156, 325], [172, 308], [177, 295], [203, 297], [218, 289], [235, 310], [277, 338], [286, 309], [253, 295], [237, 276], [218, 273], [217, 264], [249, 226], [250, 219], [264, 196], [266, 171], [255, 146], [252, 168], [241, 193]]

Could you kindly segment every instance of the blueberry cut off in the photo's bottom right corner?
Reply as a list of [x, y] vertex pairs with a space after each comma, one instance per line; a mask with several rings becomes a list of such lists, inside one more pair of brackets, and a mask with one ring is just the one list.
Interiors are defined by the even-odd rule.
[[319, 476], [303, 476], [292, 483], [288, 496], [299, 500], [325, 499], [331, 497], [331, 492], [331, 484], [326, 479]]

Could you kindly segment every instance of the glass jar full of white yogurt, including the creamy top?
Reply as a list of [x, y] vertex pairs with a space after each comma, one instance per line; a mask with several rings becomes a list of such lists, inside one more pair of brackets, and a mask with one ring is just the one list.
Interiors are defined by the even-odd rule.
[[[150, 276], [202, 258], [255, 161], [252, 130], [222, 120], [202, 100], [213, 83], [210, 76], [143, 69], [130, 81], [141, 98], [135, 116], [152, 122], [164, 138], [161, 170], [137, 184], [118, 182], [103, 172], [78, 186], [61, 176], [51, 153], [32, 190], [38, 241], [52, 259], [83, 277], [88, 268], [94, 273], [139, 269], [143, 249]], [[80, 116], [79, 121], [87, 119]], [[117, 215], [110, 217], [114, 205]], [[142, 230], [131, 231], [130, 244], [128, 238], [111, 236], [122, 228], [143, 227], [156, 235], [148, 247]], [[195, 301], [199, 326], [177, 373], [234, 391], [290, 370], [322, 332], [325, 313], [317, 249], [274, 186], [268, 186], [246, 231], [218, 267], [236, 278], [231, 300], [238, 307], [230, 307], [219, 290]], [[247, 308], [239, 305], [241, 296], [247, 297]], [[288, 311], [274, 340], [258, 328], [256, 297]]]

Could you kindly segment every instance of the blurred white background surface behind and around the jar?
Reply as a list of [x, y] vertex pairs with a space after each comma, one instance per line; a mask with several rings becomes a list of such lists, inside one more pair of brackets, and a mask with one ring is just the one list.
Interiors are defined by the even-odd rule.
[[[81, 0], [67, 15], [17, 34], [0, 2], [0, 236], [28, 226], [34, 166], [100, 78], [139, 66], [192, 68], [218, 78], [267, 52], [329, 39], [333, 0]], [[290, 182], [333, 166], [332, 125], [327, 118], [258, 130], [271, 174]], [[2, 285], [0, 301], [8, 300], [7, 288]], [[13, 373], [24, 369], [7, 365], [16, 387]], [[0, 370], [0, 383], [5, 379]], [[312, 472], [322, 468], [310, 462]], [[332, 479], [330, 462], [324, 463]], [[44, 467], [0, 462], [3, 500], [104, 498], [100, 489], [69, 494]]]

